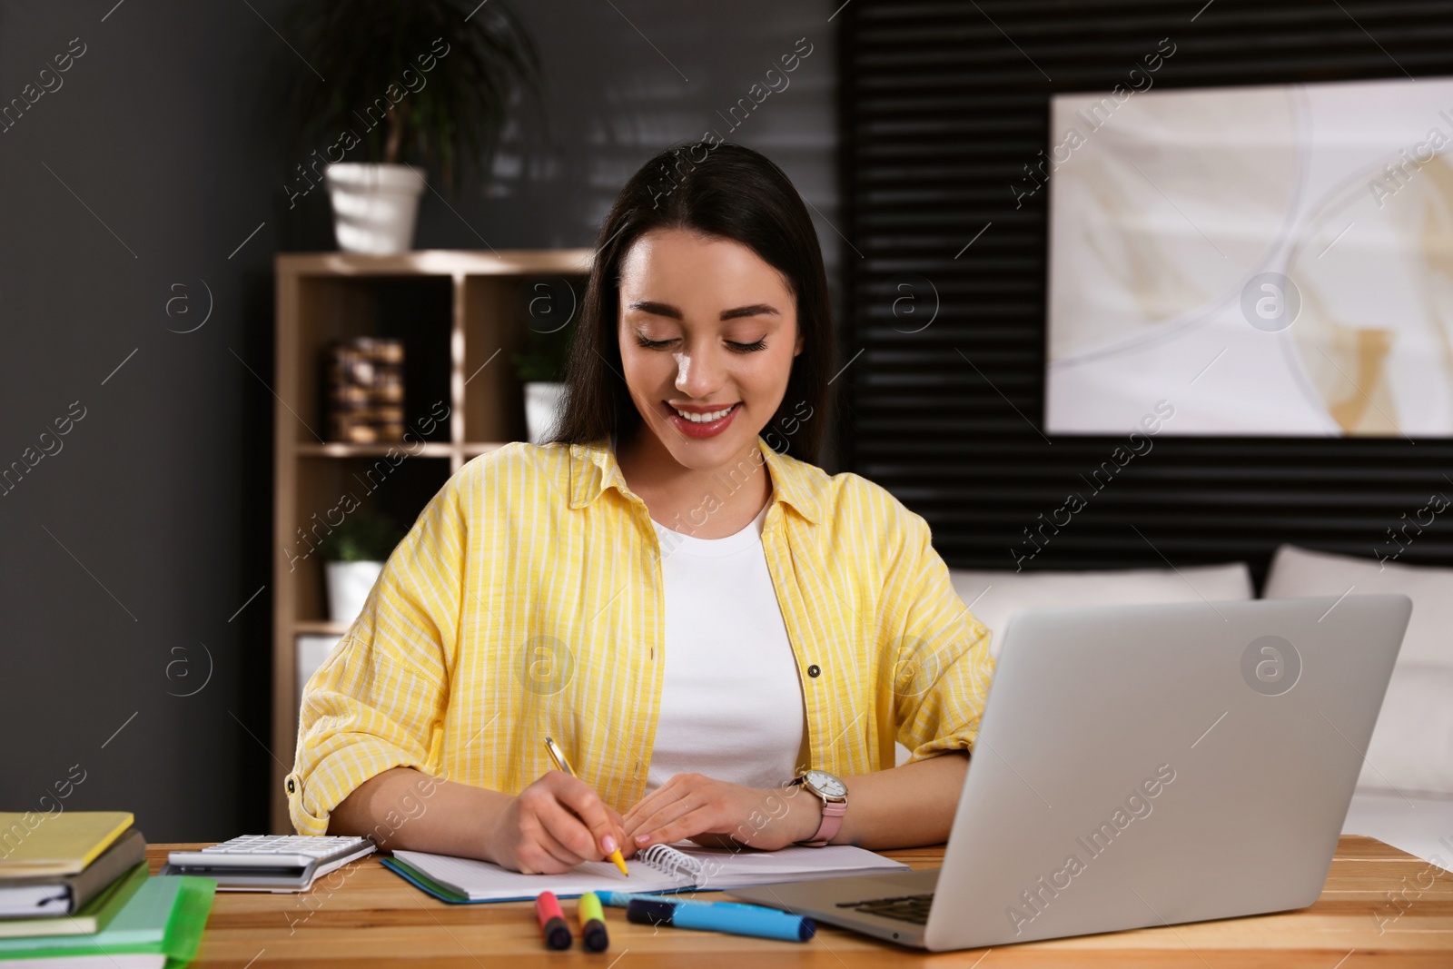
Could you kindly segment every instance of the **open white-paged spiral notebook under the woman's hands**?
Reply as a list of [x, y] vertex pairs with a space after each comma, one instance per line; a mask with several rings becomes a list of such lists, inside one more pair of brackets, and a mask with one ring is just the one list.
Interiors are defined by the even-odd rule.
[[384, 864], [446, 902], [510, 902], [541, 892], [574, 898], [586, 892], [715, 892], [802, 882], [840, 875], [907, 872], [901, 861], [850, 844], [777, 851], [703, 848], [689, 841], [654, 844], [628, 861], [631, 877], [609, 861], [586, 861], [564, 875], [520, 875], [490, 861], [426, 851], [395, 851]]

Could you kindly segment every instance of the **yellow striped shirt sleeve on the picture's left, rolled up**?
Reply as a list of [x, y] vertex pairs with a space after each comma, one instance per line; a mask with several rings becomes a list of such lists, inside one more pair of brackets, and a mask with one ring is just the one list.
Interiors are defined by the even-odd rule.
[[344, 641], [308, 680], [285, 784], [299, 834], [325, 834], [333, 809], [391, 767], [437, 769], [465, 533], [450, 479], [388, 556]]

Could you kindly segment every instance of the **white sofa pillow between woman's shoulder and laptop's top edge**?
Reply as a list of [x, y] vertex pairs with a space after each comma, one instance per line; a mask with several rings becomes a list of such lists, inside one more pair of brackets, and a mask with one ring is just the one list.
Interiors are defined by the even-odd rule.
[[1251, 569], [1245, 562], [1193, 565], [1183, 569], [1126, 568], [1085, 572], [949, 569], [949, 578], [974, 617], [994, 633], [989, 639], [989, 652], [994, 658], [998, 658], [1000, 639], [1010, 617], [1021, 609], [1138, 606], [1254, 597]]

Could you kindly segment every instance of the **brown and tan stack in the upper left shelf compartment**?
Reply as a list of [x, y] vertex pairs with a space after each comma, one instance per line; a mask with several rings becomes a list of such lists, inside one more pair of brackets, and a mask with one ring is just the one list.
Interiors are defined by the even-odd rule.
[[404, 341], [340, 340], [328, 347], [328, 436], [352, 445], [404, 439]]

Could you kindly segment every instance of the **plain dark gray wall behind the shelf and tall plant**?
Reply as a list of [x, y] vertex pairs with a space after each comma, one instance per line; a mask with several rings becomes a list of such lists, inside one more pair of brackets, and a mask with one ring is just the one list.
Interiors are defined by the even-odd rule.
[[[0, 103], [84, 44], [0, 132], [0, 469], [55, 452], [0, 494], [0, 809], [45, 809], [80, 766], [64, 805], [153, 841], [266, 827], [270, 267], [331, 247], [321, 189], [288, 209], [296, 160], [257, 97], [286, 6], [0, 3]], [[418, 247], [590, 246], [649, 154], [712, 126], [793, 177], [835, 280], [835, 4], [519, 6], [545, 112], [488, 185], [426, 195]], [[716, 112], [802, 36], [729, 131]]]

